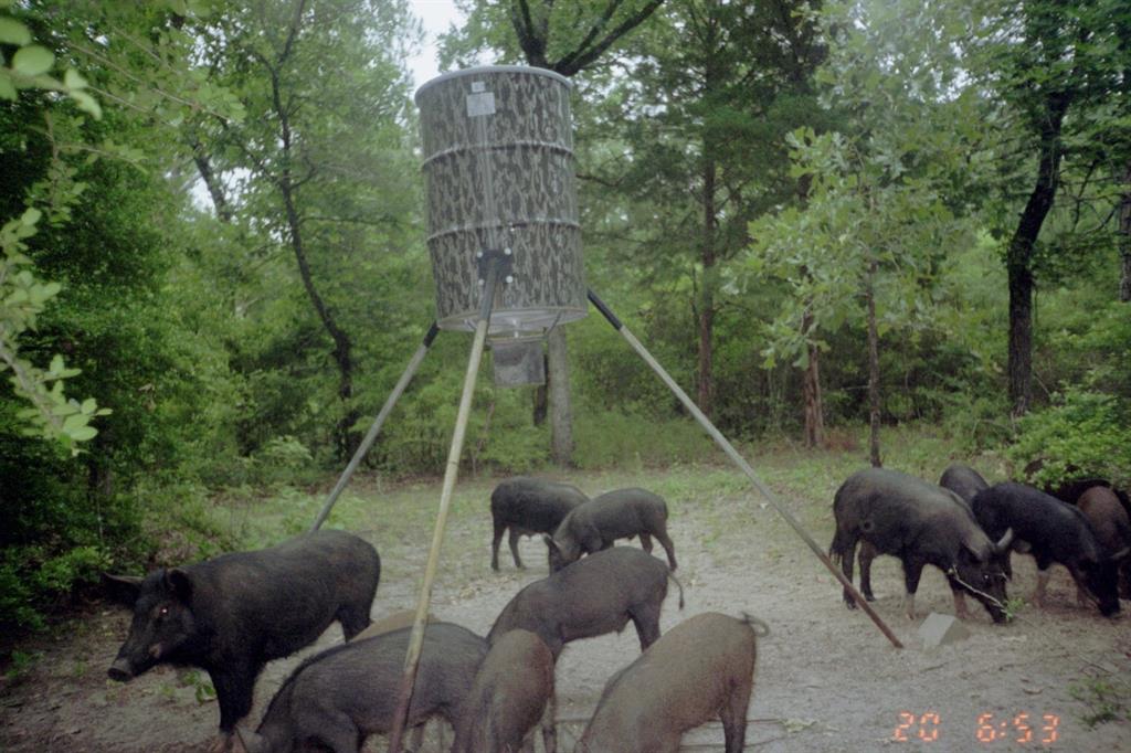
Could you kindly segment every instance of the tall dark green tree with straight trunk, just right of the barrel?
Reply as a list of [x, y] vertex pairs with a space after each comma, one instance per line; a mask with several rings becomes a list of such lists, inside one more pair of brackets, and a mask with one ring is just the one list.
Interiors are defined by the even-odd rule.
[[750, 219], [796, 194], [779, 139], [817, 111], [810, 80], [822, 53], [803, 6], [670, 2], [632, 43], [596, 126], [623, 149], [597, 150], [587, 176], [611, 189], [603, 196], [654, 213], [632, 218], [639, 226], [625, 232], [641, 243], [618, 256], [687, 291], [707, 415], [723, 266], [744, 248]]

